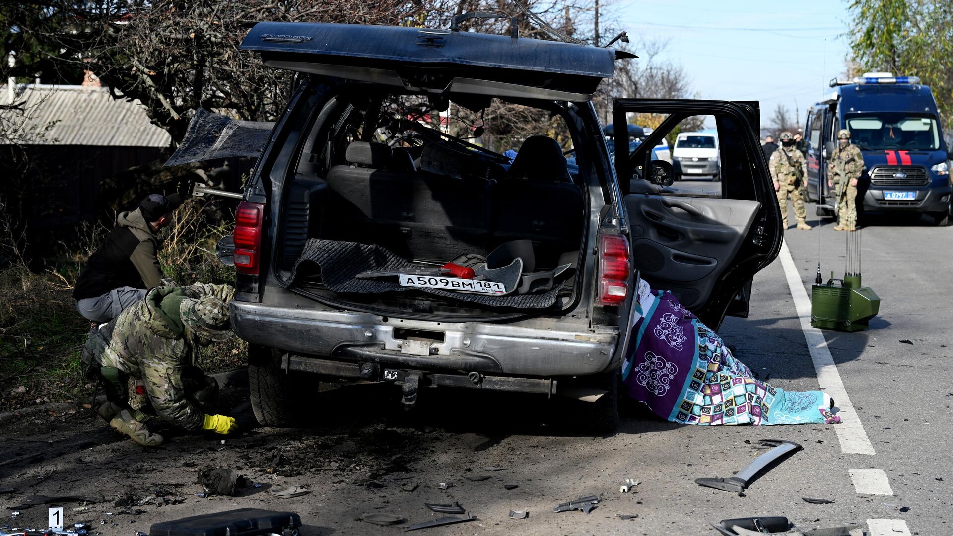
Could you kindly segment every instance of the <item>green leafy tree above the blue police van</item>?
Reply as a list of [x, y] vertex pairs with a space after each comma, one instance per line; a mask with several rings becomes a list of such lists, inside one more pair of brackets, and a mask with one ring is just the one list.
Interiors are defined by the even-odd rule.
[[853, 0], [849, 10], [852, 59], [866, 71], [920, 76], [944, 127], [953, 124], [953, 2]]

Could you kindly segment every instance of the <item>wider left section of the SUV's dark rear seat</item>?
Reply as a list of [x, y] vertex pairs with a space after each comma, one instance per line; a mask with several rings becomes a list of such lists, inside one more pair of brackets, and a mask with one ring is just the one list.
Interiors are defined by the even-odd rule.
[[327, 181], [322, 237], [371, 242], [405, 258], [487, 252], [489, 183], [416, 170], [402, 149], [354, 142]]

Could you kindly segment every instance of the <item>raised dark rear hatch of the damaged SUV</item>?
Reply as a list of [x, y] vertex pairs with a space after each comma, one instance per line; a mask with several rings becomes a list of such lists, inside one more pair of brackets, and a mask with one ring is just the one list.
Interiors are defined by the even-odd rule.
[[268, 67], [411, 91], [584, 101], [611, 78], [617, 52], [469, 31], [262, 22], [241, 49]]

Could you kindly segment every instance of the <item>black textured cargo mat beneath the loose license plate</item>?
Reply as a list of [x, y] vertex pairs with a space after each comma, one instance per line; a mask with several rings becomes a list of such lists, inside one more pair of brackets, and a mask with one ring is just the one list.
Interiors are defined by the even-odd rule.
[[552, 290], [538, 294], [493, 296], [432, 288], [405, 287], [391, 280], [356, 278], [357, 274], [372, 270], [400, 270], [420, 267], [420, 265], [416, 265], [397, 256], [394, 252], [374, 244], [311, 238], [305, 242], [301, 256], [294, 261], [292, 276], [285, 286], [291, 287], [299, 278], [307, 278], [320, 273], [324, 286], [334, 292], [379, 294], [416, 290], [444, 298], [482, 303], [491, 307], [516, 307], [517, 309], [550, 307], [556, 303], [556, 297], [562, 288], [560, 284]]

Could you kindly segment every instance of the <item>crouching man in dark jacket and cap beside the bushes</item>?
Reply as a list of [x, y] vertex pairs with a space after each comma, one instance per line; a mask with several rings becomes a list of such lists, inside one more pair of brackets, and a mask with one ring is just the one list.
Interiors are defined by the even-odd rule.
[[116, 218], [116, 226], [92, 254], [72, 291], [83, 317], [94, 322], [112, 320], [162, 282], [155, 235], [172, 223], [172, 211], [181, 204], [176, 194], [152, 194], [139, 208]]

